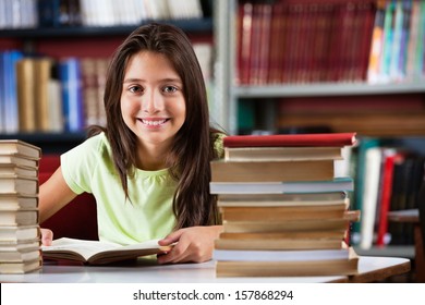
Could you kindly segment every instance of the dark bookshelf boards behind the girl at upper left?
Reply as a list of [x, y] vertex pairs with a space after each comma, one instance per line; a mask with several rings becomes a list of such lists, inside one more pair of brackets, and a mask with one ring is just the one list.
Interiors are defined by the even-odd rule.
[[[34, 1], [34, 3], [41, 2], [44, 5], [54, 5], [54, 3], [59, 3], [56, 0], [46, 0], [46, 1]], [[70, 1], [78, 2], [78, 1]], [[80, 1], [82, 4], [86, 3], [95, 3], [93, 0]], [[136, 1], [133, 1], [134, 3]], [[136, 5], [132, 2], [132, 5]], [[161, 2], [161, 3], [160, 3]], [[194, 41], [194, 44], [199, 45], [212, 45], [212, 17], [211, 17], [211, 5], [208, 1], [204, 0], [195, 0], [187, 1], [183, 7], [189, 5], [191, 2], [193, 5], [196, 4], [197, 13], [195, 15], [185, 15], [178, 16], [175, 8], [174, 11], [171, 12], [171, 9], [168, 7], [167, 12], [168, 15], [165, 15], [157, 12], [154, 15], [154, 8], [156, 5], [165, 5], [167, 1], [139, 1], [137, 5], [146, 5], [146, 9], [149, 9], [149, 14], [147, 15], [147, 10], [144, 12], [144, 16], [139, 16], [138, 21], [131, 21], [131, 12], [114, 12], [114, 15], [120, 13], [122, 19], [120, 21], [113, 23], [109, 22], [108, 24], [100, 23], [88, 23], [88, 21], [80, 20], [75, 23], [68, 24], [58, 24], [59, 16], [54, 16], [49, 20], [42, 21], [40, 16], [40, 8], [33, 8], [35, 11], [33, 14], [38, 14], [38, 25], [33, 22], [33, 24], [9, 24], [8, 21], [2, 21], [0, 23], [0, 53], [16, 50], [21, 52], [21, 57], [29, 58], [29, 59], [38, 59], [38, 58], [48, 58], [52, 60], [54, 72], [52, 72], [51, 76], [57, 78], [54, 75], [58, 72], [56, 71], [56, 66], [59, 65], [59, 62], [65, 58], [75, 58], [78, 61], [84, 59], [94, 59], [94, 60], [105, 60], [107, 61], [116, 48], [123, 41], [123, 39], [136, 27], [142, 24], [147, 24], [149, 22], [165, 22], [169, 24], [173, 24], [182, 28], [190, 38]], [[22, 3], [22, 5], [32, 5], [32, 1], [27, 1]], [[49, 3], [49, 4], [47, 4]], [[68, 3], [68, 4], [70, 4]], [[4, 3], [1, 5], [12, 5], [11, 3]], [[21, 3], [20, 3], [21, 5]], [[106, 7], [114, 5], [114, 1], [102, 1], [102, 10]], [[171, 5], [171, 4], [170, 4]], [[125, 5], [123, 5], [125, 7]], [[149, 7], [149, 8], [148, 8]], [[17, 7], [16, 7], [17, 8]], [[15, 8], [15, 9], [16, 9]], [[3, 8], [4, 9], [4, 8]], [[27, 12], [28, 10], [23, 11]], [[121, 10], [121, 9], [120, 9]], [[23, 13], [21, 11], [21, 13]], [[165, 10], [162, 10], [163, 12]], [[83, 14], [83, 8], [77, 9], [78, 14]], [[57, 12], [58, 14], [60, 12]], [[142, 14], [141, 12], [137, 12]], [[186, 11], [189, 14], [189, 12]], [[98, 12], [99, 15], [106, 15], [105, 12]], [[201, 14], [201, 15], [199, 15]], [[31, 17], [33, 20], [33, 17]], [[132, 20], [134, 21], [134, 15], [132, 15]], [[99, 21], [99, 20], [98, 20]], [[49, 24], [46, 24], [49, 23]], [[100, 22], [100, 21], [99, 21]], [[104, 20], [105, 22], [105, 20]], [[105, 66], [105, 65], [104, 65]], [[51, 70], [53, 71], [53, 70]], [[3, 76], [0, 77], [1, 82], [3, 82]], [[84, 81], [84, 80], [83, 80]], [[3, 85], [0, 84], [0, 88]], [[84, 86], [84, 84], [83, 84]], [[17, 90], [17, 89], [16, 89]], [[100, 90], [99, 90], [100, 91]], [[100, 95], [100, 93], [99, 93]], [[16, 98], [16, 97], [15, 97]], [[1, 94], [1, 99], [3, 96]], [[5, 99], [5, 98], [4, 98]], [[84, 103], [85, 97], [83, 97]], [[101, 103], [101, 99], [99, 99], [99, 103]], [[3, 106], [1, 106], [3, 108]], [[99, 106], [101, 107], [101, 106]], [[37, 110], [36, 110], [37, 111]], [[100, 111], [100, 110], [99, 110]], [[38, 145], [42, 148], [44, 154], [61, 154], [66, 151], [68, 149], [74, 147], [75, 145], [83, 142], [86, 137], [85, 127], [78, 127], [76, 130], [69, 130], [66, 127], [59, 127], [54, 130], [50, 127], [50, 130], [41, 129], [37, 126], [33, 130], [23, 129], [21, 123], [9, 122], [7, 115], [0, 111], [0, 137], [1, 138], [21, 138], [26, 142]], [[60, 114], [57, 113], [56, 117]], [[98, 114], [100, 115], [100, 114]], [[20, 119], [23, 121], [22, 119]], [[40, 115], [35, 114], [35, 121], [41, 121]], [[92, 121], [92, 123], [99, 123], [98, 121]], [[36, 125], [40, 124], [39, 122], [35, 123]], [[13, 127], [11, 127], [13, 125]], [[16, 126], [19, 125], [19, 126]], [[86, 125], [89, 125], [88, 123]]]

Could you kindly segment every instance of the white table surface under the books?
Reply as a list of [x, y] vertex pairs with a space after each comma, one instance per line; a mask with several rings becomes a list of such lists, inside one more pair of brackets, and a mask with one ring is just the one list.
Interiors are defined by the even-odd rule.
[[350, 277], [217, 278], [215, 261], [203, 264], [156, 265], [141, 260], [136, 265], [82, 266], [46, 263], [42, 269], [26, 274], [0, 274], [0, 282], [42, 283], [317, 283], [373, 282], [410, 271], [406, 258], [362, 256], [359, 273]]

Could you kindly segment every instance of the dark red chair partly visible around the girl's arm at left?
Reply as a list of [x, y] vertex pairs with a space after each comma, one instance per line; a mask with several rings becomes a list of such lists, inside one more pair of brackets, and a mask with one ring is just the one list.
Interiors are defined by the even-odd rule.
[[[52, 175], [59, 164], [58, 155], [42, 156], [38, 172], [40, 185]], [[76, 196], [64, 208], [40, 223], [40, 227], [52, 230], [54, 239], [98, 240], [95, 197], [87, 193]]]

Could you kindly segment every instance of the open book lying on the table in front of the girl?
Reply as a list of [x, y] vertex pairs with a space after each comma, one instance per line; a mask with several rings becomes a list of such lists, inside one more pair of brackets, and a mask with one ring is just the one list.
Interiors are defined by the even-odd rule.
[[172, 245], [158, 245], [158, 240], [122, 246], [113, 243], [68, 237], [54, 240], [51, 246], [41, 246], [42, 257], [46, 259], [70, 259], [89, 265], [104, 265], [139, 256], [167, 253], [171, 248]]

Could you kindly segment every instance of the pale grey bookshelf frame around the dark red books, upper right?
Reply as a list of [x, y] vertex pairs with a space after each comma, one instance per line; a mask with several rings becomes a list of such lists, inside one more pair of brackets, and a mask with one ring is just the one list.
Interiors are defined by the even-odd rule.
[[[216, 1], [215, 3], [215, 39], [216, 39], [216, 99], [215, 105], [218, 110], [216, 115], [221, 125], [231, 134], [250, 133], [254, 130], [277, 132], [282, 125], [279, 121], [279, 105], [286, 99], [303, 99], [305, 97], [356, 97], [359, 107], [374, 100], [375, 97], [385, 99], [388, 96], [397, 95], [399, 100], [411, 98], [416, 94], [420, 103], [424, 105], [425, 81], [420, 77], [405, 82], [369, 83], [367, 80], [353, 81], [325, 81], [325, 82], [286, 82], [267, 84], [241, 84], [238, 83], [238, 19], [239, 3], [243, 1]], [[245, 1], [250, 2], [250, 1]], [[253, 2], [253, 1], [251, 1]], [[262, 1], [257, 1], [260, 3]], [[267, 1], [263, 1], [267, 3]], [[294, 1], [288, 1], [294, 2]], [[296, 2], [296, 1], [295, 1]], [[308, 1], [299, 1], [308, 2]], [[376, 5], [375, 1], [323, 1], [318, 0], [317, 5], [328, 3], [359, 3], [368, 2]], [[274, 3], [279, 3], [276, 1]], [[375, 12], [375, 11], [374, 11]], [[312, 21], [313, 22], [313, 21]], [[230, 28], [230, 30], [229, 30]], [[276, 38], [277, 39], [277, 38]], [[372, 37], [371, 37], [372, 39]], [[282, 50], [284, 52], [284, 50]], [[248, 129], [241, 129], [244, 103], [250, 103], [254, 108], [245, 118], [251, 120]], [[385, 105], [385, 103], [384, 103]], [[425, 112], [425, 110], [423, 110]], [[262, 113], [256, 115], [253, 112]], [[421, 113], [424, 114], [424, 113]], [[241, 118], [242, 117], [242, 118]], [[243, 122], [242, 122], [243, 125]], [[425, 127], [411, 135], [425, 135]]]

